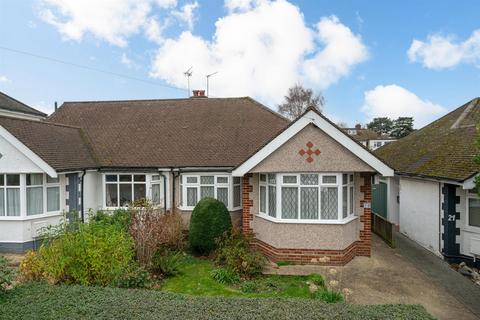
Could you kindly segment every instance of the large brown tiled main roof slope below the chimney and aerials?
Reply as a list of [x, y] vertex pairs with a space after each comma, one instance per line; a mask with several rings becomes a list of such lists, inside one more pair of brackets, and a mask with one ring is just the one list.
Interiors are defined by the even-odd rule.
[[251, 98], [66, 102], [100, 167], [234, 167], [289, 121]]

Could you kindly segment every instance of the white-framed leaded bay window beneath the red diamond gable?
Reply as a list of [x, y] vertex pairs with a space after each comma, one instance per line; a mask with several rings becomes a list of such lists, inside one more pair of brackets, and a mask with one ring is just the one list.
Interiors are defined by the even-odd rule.
[[354, 215], [354, 207], [353, 174], [259, 174], [260, 215], [281, 221], [342, 221]]

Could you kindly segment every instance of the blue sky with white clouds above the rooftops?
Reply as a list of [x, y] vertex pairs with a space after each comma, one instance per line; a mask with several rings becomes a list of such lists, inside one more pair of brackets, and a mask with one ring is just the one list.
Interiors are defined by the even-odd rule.
[[54, 102], [251, 96], [302, 84], [348, 125], [420, 128], [480, 96], [480, 2], [0, 0], [0, 91]]

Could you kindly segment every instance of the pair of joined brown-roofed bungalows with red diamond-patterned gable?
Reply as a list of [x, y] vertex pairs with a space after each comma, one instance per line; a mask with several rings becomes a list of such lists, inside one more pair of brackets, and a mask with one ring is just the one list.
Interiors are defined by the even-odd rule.
[[204, 197], [272, 260], [343, 265], [371, 252], [371, 182], [388, 165], [313, 109], [290, 122], [255, 100], [65, 102], [0, 117], [0, 249], [38, 245], [64, 212], [149, 198], [188, 223]]

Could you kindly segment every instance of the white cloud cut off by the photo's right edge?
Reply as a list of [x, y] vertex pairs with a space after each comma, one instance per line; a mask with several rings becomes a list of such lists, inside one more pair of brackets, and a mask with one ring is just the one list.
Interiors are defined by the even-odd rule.
[[452, 68], [460, 63], [480, 64], [480, 29], [475, 30], [465, 41], [454, 36], [434, 34], [427, 40], [414, 39], [408, 49], [411, 62], [420, 62], [429, 69]]

